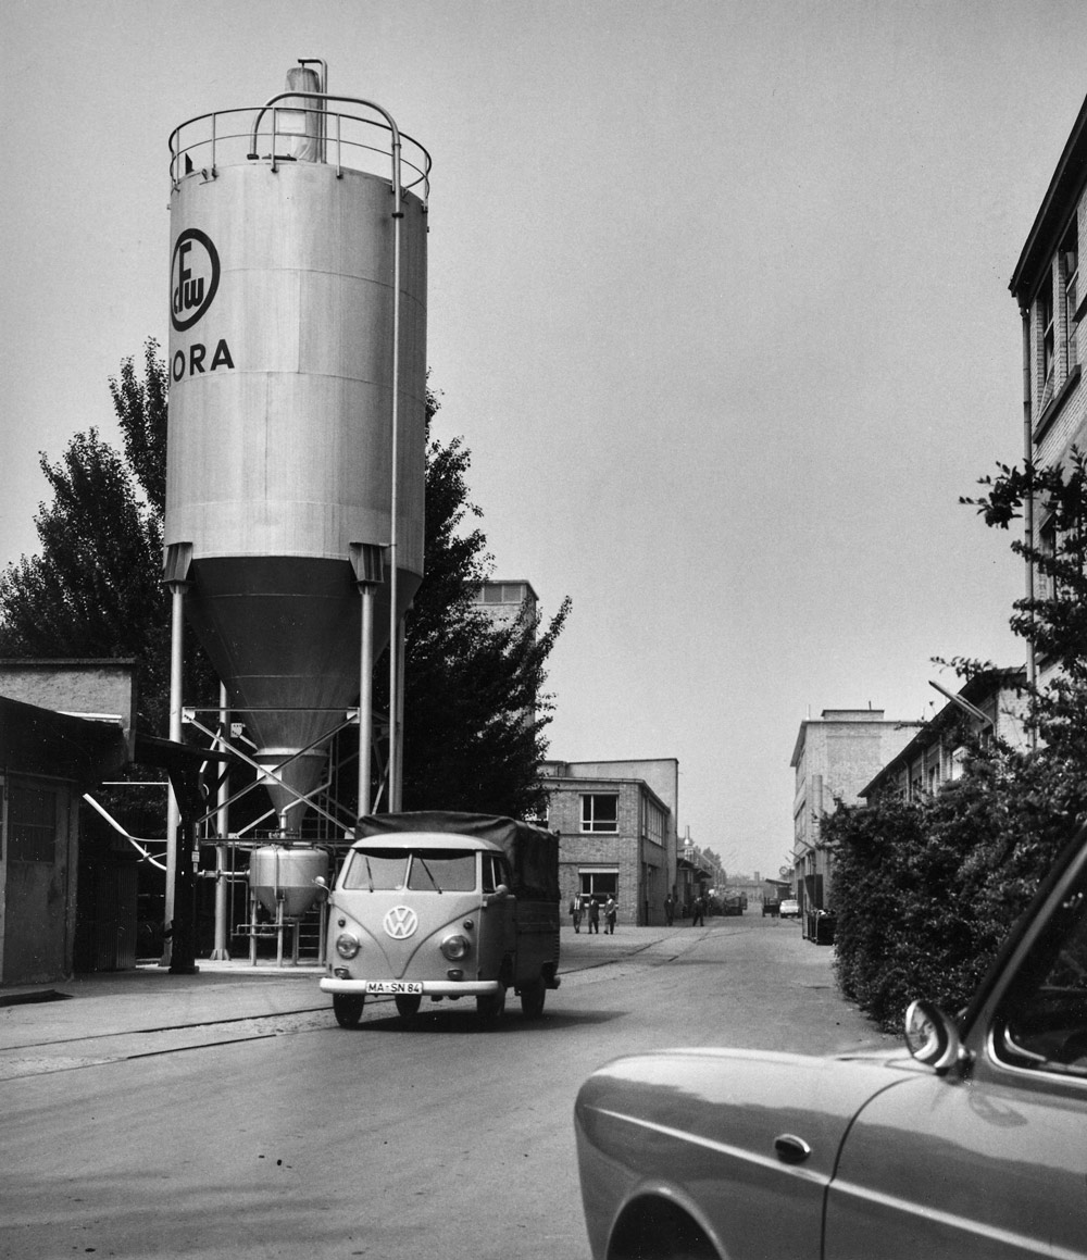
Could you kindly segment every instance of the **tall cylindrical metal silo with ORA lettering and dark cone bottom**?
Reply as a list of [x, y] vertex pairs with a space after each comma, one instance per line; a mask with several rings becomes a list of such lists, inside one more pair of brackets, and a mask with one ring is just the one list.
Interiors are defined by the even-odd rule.
[[430, 161], [312, 71], [288, 87], [171, 137], [164, 542], [256, 760], [305, 794], [325, 753], [296, 753], [359, 697], [359, 556], [396, 543], [374, 653], [422, 578]]

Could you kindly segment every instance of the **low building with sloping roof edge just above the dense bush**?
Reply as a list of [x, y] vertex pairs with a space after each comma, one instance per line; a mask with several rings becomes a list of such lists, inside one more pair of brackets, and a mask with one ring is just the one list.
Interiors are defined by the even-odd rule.
[[1023, 668], [987, 669], [976, 674], [862, 788], [860, 796], [872, 800], [880, 793], [892, 791], [903, 800], [917, 800], [938, 791], [962, 774], [967, 735], [1025, 747], [1025, 682]]

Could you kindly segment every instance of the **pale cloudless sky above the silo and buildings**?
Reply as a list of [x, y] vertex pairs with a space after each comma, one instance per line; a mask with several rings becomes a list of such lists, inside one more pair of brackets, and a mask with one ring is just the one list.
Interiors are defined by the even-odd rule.
[[775, 873], [806, 717], [1023, 662], [959, 499], [1022, 457], [1008, 281], [1082, 0], [0, 0], [0, 563], [166, 344], [170, 132], [324, 58], [433, 159], [435, 435], [494, 576], [572, 600], [552, 757], [678, 759], [680, 835]]

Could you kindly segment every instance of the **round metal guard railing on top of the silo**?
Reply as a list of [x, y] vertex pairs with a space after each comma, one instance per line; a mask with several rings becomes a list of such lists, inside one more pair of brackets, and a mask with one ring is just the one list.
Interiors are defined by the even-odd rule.
[[170, 186], [176, 190], [194, 176], [214, 179], [224, 166], [265, 163], [275, 171], [281, 163], [300, 161], [335, 166], [338, 178], [356, 170], [388, 175], [393, 183], [399, 141], [401, 188], [426, 205], [431, 155], [387, 120], [378, 107], [364, 115], [302, 105], [297, 92], [273, 105], [202, 113], [170, 136]]

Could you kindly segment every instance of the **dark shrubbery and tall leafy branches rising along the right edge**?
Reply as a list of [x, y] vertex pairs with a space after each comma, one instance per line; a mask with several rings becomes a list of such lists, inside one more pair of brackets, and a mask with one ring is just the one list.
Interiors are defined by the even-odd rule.
[[[1047, 523], [1011, 549], [1038, 587], [1011, 627], [1033, 641], [1045, 682], [1028, 688], [1029, 750], [972, 745], [961, 780], [913, 801], [839, 804], [822, 820], [834, 854], [839, 984], [891, 1027], [914, 997], [966, 1003], [1054, 857], [1087, 818], [1087, 467], [999, 465], [986, 493], [964, 499], [1006, 529], [1033, 504]], [[956, 658], [971, 677], [991, 668]]]

